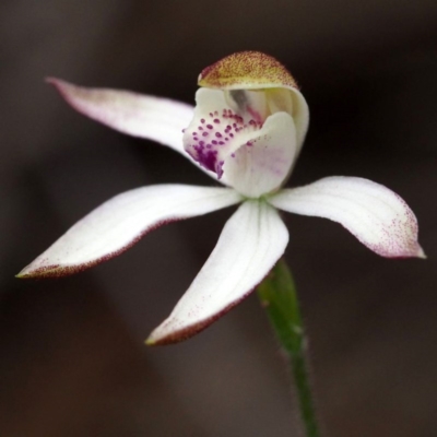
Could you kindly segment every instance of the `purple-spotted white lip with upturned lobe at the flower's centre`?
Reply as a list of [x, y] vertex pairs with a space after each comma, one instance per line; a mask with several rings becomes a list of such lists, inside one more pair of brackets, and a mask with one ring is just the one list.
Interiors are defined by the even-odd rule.
[[194, 118], [184, 133], [187, 152], [226, 185], [249, 198], [277, 189], [296, 155], [296, 130], [285, 111], [262, 125], [245, 120], [220, 90], [200, 88]]

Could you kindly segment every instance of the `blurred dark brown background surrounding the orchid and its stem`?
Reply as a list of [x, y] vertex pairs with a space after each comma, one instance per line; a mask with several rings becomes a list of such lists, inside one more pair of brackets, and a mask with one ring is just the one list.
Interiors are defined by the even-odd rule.
[[161, 228], [78, 276], [14, 279], [121, 191], [211, 185], [170, 150], [75, 114], [44, 76], [192, 103], [201, 69], [245, 49], [284, 62], [310, 106], [290, 185], [387, 185], [428, 255], [382, 259], [339, 225], [285, 216], [326, 436], [436, 435], [436, 1], [2, 0], [1, 436], [299, 435], [255, 295], [185, 343], [143, 345], [231, 210]]

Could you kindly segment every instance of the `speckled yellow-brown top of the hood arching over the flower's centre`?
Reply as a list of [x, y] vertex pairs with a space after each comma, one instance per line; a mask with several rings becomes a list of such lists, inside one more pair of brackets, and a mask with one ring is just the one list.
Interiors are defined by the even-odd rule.
[[206, 67], [199, 75], [199, 86], [221, 90], [297, 88], [288, 70], [260, 51], [239, 51]]

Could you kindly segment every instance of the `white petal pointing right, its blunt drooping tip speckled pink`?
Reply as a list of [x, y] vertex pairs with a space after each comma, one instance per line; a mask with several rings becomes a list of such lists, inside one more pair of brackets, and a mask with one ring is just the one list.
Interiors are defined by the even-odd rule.
[[284, 211], [338, 222], [382, 257], [424, 258], [414, 213], [397, 193], [370, 180], [328, 177], [282, 190], [269, 202]]

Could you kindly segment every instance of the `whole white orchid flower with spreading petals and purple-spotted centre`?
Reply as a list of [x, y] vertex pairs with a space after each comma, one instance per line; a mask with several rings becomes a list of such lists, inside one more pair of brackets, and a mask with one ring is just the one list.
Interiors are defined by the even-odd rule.
[[263, 280], [288, 243], [277, 209], [338, 222], [382, 257], [424, 258], [413, 212], [379, 184], [334, 176], [282, 188], [303, 145], [309, 115], [296, 82], [270, 56], [244, 51], [204, 69], [194, 108], [166, 98], [48, 81], [78, 111], [173, 147], [223, 187], [157, 185], [121, 193], [78, 222], [20, 277], [75, 273], [120, 255], [168, 222], [240, 204], [149, 344], [197, 333]]

